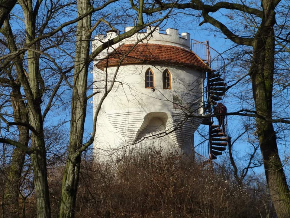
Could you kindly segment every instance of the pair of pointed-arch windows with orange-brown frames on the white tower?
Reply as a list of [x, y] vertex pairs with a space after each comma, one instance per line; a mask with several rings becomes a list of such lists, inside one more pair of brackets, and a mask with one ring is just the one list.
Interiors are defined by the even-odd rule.
[[[163, 71], [162, 83], [164, 89], [171, 89], [171, 74], [168, 69]], [[150, 68], [145, 73], [145, 88], [154, 88], [154, 73]]]

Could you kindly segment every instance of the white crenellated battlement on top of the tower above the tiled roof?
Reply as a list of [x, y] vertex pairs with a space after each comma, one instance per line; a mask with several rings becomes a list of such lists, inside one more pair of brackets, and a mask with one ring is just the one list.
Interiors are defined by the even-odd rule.
[[[125, 32], [131, 30], [134, 27], [126, 27]], [[95, 41], [93, 41], [93, 49], [97, 46], [105, 43], [109, 39], [112, 39], [120, 34], [119, 30], [111, 30], [107, 31], [106, 35], [100, 34], [95, 37]], [[150, 26], [147, 27], [138, 33], [134, 34], [133, 36], [124, 39], [123, 41], [114, 45], [114, 48], [122, 44], [133, 44], [136, 41], [146, 37], [143, 39], [143, 42], [152, 43], [152, 44], [159, 44], [159, 45], [172, 45], [178, 46], [181, 48], [185, 48], [190, 50], [190, 34], [185, 32], [179, 34], [178, 29], [167, 28], [166, 30], [161, 30], [159, 27]]]

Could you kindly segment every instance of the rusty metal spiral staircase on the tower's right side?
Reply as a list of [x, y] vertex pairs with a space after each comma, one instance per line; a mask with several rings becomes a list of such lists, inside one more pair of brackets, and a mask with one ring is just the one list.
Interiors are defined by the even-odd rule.
[[[221, 55], [211, 48], [206, 42], [192, 41], [192, 51], [194, 51], [203, 61], [205, 61], [211, 69], [217, 69], [207, 72], [206, 86], [205, 86], [205, 106], [204, 114], [205, 119], [202, 124], [209, 126], [209, 146], [208, 161], [203, 165], [212, 163], [219, 155], [223, 154], [229, 142], [227, 136], [227, 121], [224, 120], [219, 124], [215, 108], [222, 101], [222, 97], [226, 91], [224, 60]], [[204, 52], [202, 52], [204, 51]], [[221, 117], [221, 116], [220, 116]], [[223, 116], [224, 119], [224, 116]]]

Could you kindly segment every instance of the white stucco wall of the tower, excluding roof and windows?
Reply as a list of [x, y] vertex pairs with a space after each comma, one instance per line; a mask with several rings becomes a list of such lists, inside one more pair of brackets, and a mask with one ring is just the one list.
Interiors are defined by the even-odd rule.
[[[166, 33], [172, 35], [159, 34], [158, 31], [153, 33], [153, 37], [149, 39], [150, 43], [189, 49], [188, 33], [183, 34], [186, 39], [180, 38], [178, 31], [174, 29], [166, 30]], [[132, 43], [140, 35], [137, 34], [124, 43]], [[94, 46], [99, 43], [100, 41], [95, 41]], [[114, 48], [116, 47], [118, 45], [114, 45]], [[106, 54], [101, 54], [99, 58], [104, 55]], [[155, 91], [145, 88], [144, 77], [148, 68], [154, 73]], [[117, 67], [108, 67], [101, 71], [94, 68], [94, 91], [102, 92], [94, 96], [94, 113], [105, 91], [106, 74], [108, 81], [111, 81], [116, 69]], [[162, 73], [166, 69], [172, 77], [172, 89], [163, 89]], [[194, 131], [202, 119], [185, 118], [189, 113], [197, 116], [202, 114], [202, 110], [198, 109], [202, 105], [202, 75], [203, 72], [194, 69], [160, 63], [122, 65], [112, 91], [101, 106], [94, 142], [94, 148], [101, 149], [95, 149], [95, 153], [101, 156], [119, 154], [119, 151], [127, 149], [127, 146], [137, 147], [135, 143], [141, 140], [142, 144], [155, 143], [166, 149], [181, 148], [182, 152], [190, 154]], [[109, 85], [110, 82], [107, 87]], [[182, 106], [186, 103], [193, 104], [191, 110], [174, 106], [173, 95], [182, 99]], [[159, 132], [153, 133], [155, 125], [161, 121], [164, 121], [164, 125], [160, 125]]]

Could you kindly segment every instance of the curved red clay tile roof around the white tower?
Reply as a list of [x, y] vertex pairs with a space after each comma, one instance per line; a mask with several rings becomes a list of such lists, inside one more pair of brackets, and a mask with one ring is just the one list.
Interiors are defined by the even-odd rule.
[[[109, 58], [99, 61], [96, 66], [103, 70], [109, 66], [116, 66], [119, 61], [132, 49], [133, 44], [124, 44], [109, 54]], [[108, 62], [107, 62], [108, 61]], [[146, 44], [136, 45], [124, 58], [122, 64], [135, 63], [164, 63], [210, 70], [194, 52], [172, 45]]]

